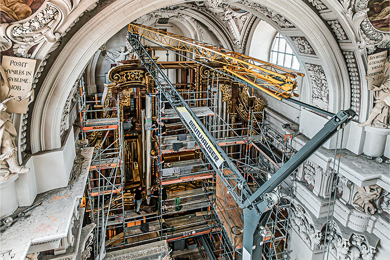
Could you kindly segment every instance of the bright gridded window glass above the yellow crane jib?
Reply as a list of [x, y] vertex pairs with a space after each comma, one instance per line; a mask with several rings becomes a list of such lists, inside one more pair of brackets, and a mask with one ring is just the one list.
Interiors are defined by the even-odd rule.
[[277, 64], [279, 66], [293, 70], [299, 70], [300, 68], [298, 59], [296, 59], [296, 56], [290, 45], [280, 33], [278, 33], [273, 40], [270, 60], [270, 62], [273, 64]]

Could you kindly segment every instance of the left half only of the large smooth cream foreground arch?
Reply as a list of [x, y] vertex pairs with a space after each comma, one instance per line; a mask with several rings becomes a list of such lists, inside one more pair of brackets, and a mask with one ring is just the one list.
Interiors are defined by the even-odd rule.
[[[82, 26], [60, 52], [40, 88], [31, 122], [33, 153], [61, 147], [62, 109], [74, 82], [98, 48], [129, 22], [181, 1], [116, 1]], [[118, 12], [117, 10], [121, 10]]]

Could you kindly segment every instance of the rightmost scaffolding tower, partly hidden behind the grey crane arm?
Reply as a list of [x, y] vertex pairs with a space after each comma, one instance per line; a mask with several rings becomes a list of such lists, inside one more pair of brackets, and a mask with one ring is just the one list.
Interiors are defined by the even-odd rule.
[[[258, 117], [255, 116], [256, 113], [251, 113], [249, 129], [256, 134], [251, 136], [250, 140], [258, 155], [253, 159], [247, 155], [246, 161], [249, 165], [254, 165], [254, 171], [249, 173], [255, 180], [256, 185], [254, 186], [259, 184], [261, 186], [295, 153], [294, 148], [292, 148], [294, 135], [286, 133], [282, 135], [269, 124], [259, 122]], [[265, 111], [261, 113], [261, 118], [265, 118]], [[280, 202], [273, 206], [271, 216], [266, 224], [270, 229], [270, 239], [264, 241], [263, 244], [265, 259], [289, 259], [287, 242], [294, 180], [295, 172], [291, 180], [282, 182], [276, 189]]]

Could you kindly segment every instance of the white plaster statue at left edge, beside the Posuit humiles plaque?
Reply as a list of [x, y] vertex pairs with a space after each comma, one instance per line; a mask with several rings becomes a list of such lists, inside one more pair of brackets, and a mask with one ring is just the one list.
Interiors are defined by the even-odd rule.
[[[18, 133], [11, 120], [11, 114], [7, 112], [5, 104], [10, 99], [6, 99], [9, 92], [7, 78], [4, 70], [1, 67], [1, 103], [0, 103], [0, 181], [4, 181], [12, 177], [15, 173], [27, 173], [30, 168], [19, 165], [17, 160], [17, 147], [15, 138]], [[34, 90], [31, 90], [24, 97], [30, 99], [34, 95]], [[32, 99], [31, 99], [32, 101]], [[30, 102], [31, 102], [30, 101]]]

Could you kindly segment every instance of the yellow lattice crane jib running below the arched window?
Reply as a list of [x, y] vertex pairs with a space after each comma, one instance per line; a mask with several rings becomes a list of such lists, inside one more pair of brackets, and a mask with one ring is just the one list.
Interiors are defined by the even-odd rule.
[[244, 80], [270, 96], [282, 100], [290, 98], [297, 87], [297, 76], [304, 74], [247, 55], [224, 49], [220, 46], [168, 33], [137, 23], [129, 24], [129, 32], [177, 51], [186, 51], [195, 56], [223, 64], [223, 69], [235, 78]]

